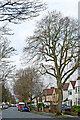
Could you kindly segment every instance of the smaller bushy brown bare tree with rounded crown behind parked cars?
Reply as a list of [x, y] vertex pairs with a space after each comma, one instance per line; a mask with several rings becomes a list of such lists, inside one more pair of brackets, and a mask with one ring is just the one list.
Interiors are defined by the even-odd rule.
[[20, 101], [26, 102], [30, 98], [31, 107], [32, 100], [41, 91], [43, 83], [34, 68], [27, 68], [20, 72], [19, 76], [17, 73], [18, 79], [14, 84], [14, 93]]

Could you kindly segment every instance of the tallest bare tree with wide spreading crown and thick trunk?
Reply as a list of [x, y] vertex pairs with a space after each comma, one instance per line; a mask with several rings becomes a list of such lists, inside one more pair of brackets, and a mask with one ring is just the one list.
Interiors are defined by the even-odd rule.
[[24, 53], [26, 61], [29, 55], [29, 60], [33, 59], [40, 65], [39, 71], [42, 74], [56, 78], [58, 111], [61, 113], [63, 85], [76, 71], [79, 63], [77, 20], [63, 17], [56, 11], [48, 13], [37, 23], [34, 35], [26, 39]]

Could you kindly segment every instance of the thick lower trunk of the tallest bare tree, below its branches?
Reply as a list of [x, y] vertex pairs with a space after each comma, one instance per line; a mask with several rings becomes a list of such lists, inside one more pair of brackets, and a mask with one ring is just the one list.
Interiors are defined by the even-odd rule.
[[63, 101], [63, 91], [62, 91], [62, 88], [58, 88], [57, 114], [61, 114], [61, 111], [62, 111], [62, 101]]

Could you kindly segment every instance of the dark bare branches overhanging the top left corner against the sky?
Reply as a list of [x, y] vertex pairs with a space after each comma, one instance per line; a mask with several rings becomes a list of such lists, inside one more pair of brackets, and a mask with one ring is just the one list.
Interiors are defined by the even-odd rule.
[[38, 16], [45, 8], [41, 0], [1, 0], [0, 21], [19, 23]]

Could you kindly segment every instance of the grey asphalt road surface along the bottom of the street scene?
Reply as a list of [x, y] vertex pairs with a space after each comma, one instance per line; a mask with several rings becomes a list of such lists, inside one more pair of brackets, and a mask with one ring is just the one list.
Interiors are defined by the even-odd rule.
[[2, 120], [80, 120], [80, 118], [68, 117], [68, 118], [57, 118], [45, 115], [39, 115], [32, 112], [20, 112], [17, 107], [11, 107], [2, 110]]

